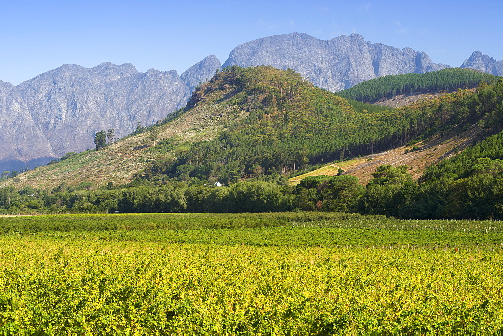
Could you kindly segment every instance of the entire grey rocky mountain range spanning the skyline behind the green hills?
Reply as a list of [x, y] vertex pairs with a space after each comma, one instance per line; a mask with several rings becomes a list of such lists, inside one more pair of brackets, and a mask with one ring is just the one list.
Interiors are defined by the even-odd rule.
[[[338, 91], [388, 74], [425, 73], [450, 67], [424, 52], [341, 35], [325, 41], [308, 34], [264, 37], [237, 46], [224, 63], [291, 68], [316, 86]], [[474, 52], [462, 67], [503, 75], [503, 61]], [[18, 86], [0, 82], [0, 171], [44, 164], [67, 152], [93, 148], [100, 130], [125, 136], [185, 107], [220, 61], [208, 56], [180, 76], [177, 71], [138, 72], [132, 64], [93, 68], [63, 65]]]

